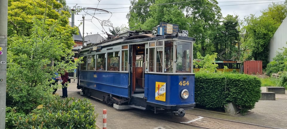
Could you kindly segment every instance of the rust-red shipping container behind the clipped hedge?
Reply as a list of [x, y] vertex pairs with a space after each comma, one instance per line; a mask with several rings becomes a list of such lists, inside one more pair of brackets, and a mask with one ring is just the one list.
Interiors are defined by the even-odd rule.
[[244, 61], [244, 74], [262, 75], [262, 61]]

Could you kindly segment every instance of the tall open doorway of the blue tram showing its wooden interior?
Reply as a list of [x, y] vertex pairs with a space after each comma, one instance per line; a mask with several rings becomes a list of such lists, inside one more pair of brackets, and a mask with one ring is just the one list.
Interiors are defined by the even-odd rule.
[[132, 93], [144, 93], [144, 44], [132, 45]]

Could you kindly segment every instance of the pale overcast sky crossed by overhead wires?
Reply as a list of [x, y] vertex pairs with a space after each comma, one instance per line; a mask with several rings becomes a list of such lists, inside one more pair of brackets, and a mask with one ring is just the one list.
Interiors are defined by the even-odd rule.
[[[217, 0], [218, 6], [221, 8], [221, 13], [225, 17], [226, 15], [238, 15], [241, 19], [244, 16], [250, 14], [255, 14], [260, 16], [262, 10], [266, 9], [272, 2], [284, 3], [285, 0]], [[84, 11], [75, 15], [75, 25], [78, 26], [83, 21], [83, 16], [85, 16], [84, 23], [84, 33], [89, 34], [101, 34], [103, 31], [109, 32], [111, 27], [101, 27], [100, 22], [103, 20], [109, 20], [112, 22], [114, 27], [117, 26], [128, 26], [128, 20], [126, 19], [126, 14], [129, 12], [130, 1], [129, 0], [66, 0], [69, 7], [79, 6], [80, 8], [97, 8], [103, 9], [112, 13], [99, 12], [88, 10], [91, 15], [88, 15]], [[95, 13], [95, 14], [94, 14]], [[99, 14], [101, 13], [101, 14]], [[99, 20], [97, 20], [97, 19]], [[71, 19], [70, 19], [71, 21]], [[100, 22], [99, 22], [100, 21]], [[81, 34], [83, 35], [83, 24], [79, 26]]]

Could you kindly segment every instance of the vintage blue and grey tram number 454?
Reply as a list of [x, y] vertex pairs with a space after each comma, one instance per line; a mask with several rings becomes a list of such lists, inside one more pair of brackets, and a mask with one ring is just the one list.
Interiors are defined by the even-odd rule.
[[117, 109], [183, 117], [195, 107], [194, 38], [135, 30], [83, 47], [77, 88]]

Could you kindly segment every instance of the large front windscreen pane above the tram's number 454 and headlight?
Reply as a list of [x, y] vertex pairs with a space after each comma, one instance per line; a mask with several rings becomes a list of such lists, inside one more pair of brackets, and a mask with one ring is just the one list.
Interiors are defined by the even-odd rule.
[[176, 72], [177, 73], [190, 73], [191, 62], [191, 43], [178, 42], [176, 47]]

